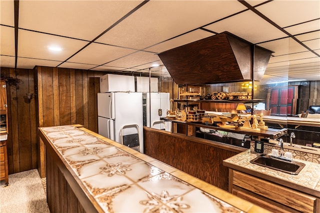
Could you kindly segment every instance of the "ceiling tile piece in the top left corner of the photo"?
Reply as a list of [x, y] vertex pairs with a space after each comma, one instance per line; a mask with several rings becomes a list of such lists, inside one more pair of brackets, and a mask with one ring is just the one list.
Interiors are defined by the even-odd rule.
[[14, 26], [13, 0], [0, 0], [0, 23], [8, 26]]

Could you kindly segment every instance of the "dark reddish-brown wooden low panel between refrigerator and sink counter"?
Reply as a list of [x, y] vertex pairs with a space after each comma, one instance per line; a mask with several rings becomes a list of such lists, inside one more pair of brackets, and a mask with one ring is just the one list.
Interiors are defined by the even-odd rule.
[[143, 140], [144, 154], [228, 191], [228, 168], [222, 161], [241, 151], [147, 127], [143, 127]]

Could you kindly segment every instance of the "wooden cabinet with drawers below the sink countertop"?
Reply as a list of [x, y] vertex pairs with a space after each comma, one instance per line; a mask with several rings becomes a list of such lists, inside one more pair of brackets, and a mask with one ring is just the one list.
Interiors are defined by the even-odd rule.
[[320, 198], [229, 169], [229, 192], [277, 213], [316, 213]]

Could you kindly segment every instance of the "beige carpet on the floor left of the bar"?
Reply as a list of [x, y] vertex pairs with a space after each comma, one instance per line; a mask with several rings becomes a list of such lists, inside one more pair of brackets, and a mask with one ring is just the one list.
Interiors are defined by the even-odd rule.
[[9, 175], [0, 184], [0, 213], [49, 213], [42, 181], [36, 169]]

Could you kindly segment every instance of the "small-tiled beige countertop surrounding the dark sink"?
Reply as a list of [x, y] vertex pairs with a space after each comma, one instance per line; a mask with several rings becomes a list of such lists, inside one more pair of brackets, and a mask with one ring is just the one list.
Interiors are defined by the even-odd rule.
[[266, 167], [251, 164], [250, 160], [258, 155], [252, 150], [239, 153], [223, 161], [223, 165], [240, 172], [248, 173], [256, 177], [270, 180], [297, 190], [320, 197], [320, 164], [293, 159], [293, 161], [304, 163], [304, 168], [297, 175], [290, 175]]

